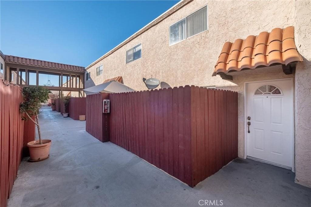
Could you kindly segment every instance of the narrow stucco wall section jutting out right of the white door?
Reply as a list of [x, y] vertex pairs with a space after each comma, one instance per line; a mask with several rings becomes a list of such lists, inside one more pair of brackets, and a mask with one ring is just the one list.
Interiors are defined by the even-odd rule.
[[295, 2], [295, 40], [304, 62], [296, 67], [295, 182], [311, 187], [311, 2]]

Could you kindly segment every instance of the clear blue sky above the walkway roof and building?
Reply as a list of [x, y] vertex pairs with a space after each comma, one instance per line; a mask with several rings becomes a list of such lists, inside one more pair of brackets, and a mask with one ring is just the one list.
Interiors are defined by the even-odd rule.
[[4, 54], [88, 66], [178, 1], [0, 1]]

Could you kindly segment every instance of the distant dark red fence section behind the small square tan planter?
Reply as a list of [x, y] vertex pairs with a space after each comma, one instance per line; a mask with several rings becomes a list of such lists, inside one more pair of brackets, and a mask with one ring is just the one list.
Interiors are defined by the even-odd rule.
[[80, 115], [86, 115], [86, 98], [70, 98], [68, 105], [69, 117], [74, 120], [79, 120]]

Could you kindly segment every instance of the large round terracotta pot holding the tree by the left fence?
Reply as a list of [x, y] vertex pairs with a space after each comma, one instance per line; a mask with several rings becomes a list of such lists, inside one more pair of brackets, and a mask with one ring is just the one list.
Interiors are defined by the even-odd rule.
[[41, 161], [49, 157], [52, 140], [42, 140], [42, 143], [43, 144], [40, 145], [39, 140], [27, 143], [30, 153], [29, 161]]

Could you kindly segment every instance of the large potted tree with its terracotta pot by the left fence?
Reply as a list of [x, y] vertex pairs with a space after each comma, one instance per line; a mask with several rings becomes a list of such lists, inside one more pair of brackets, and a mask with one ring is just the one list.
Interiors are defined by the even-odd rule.
[[38, 113], [41, 108], [41, 103], [49, 99], [48, 89], [42, 86], [26, 86], [22, 89], [24, 101], [20, 105], [22, 120], [30, 120], [38, 128], [39, 140], [34, 140], [27, 143], [30, 152], [29, 161], [37, 162], [49, 158], [49, 151], [52, 140], [43, 140], [39, 126]]

